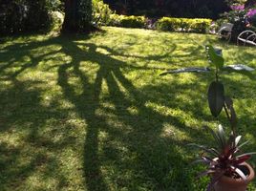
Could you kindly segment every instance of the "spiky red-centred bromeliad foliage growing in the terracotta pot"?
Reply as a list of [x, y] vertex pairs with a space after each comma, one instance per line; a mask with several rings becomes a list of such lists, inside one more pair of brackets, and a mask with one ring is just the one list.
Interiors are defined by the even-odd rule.
[[224, 176], [231, 179], [246, 180], [249, 172], [245, 169], [244, 162], [250, 159], [253, 154], [256, 154], [241, 153], [241, 148], [247, 144], [248, 141], [240, 144], [242, 137], [234, 137], [232, 134], [229, 135], [229, 138], [226, 138], [222, 125], [219, 125], [217, 131], [213, 131], [207, 126], [205, 126], [205, 128], [213, 136], [215, 146], [208, 148], [195, 143], [189, 145], [203, 150], [200, 159], [195, 160], [194, 163], [202, 162], [207, 165], [206, 170], [199, 175], [199, 177], [211, 175], [211, 180], [206, 190], [210, 191], [213, 185]]

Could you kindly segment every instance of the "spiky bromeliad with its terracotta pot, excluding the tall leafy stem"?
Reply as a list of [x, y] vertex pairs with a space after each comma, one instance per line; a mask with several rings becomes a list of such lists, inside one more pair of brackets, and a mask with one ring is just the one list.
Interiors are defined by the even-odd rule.
[[222, 125], [219, 125], [217, 131], [207, 126], [205, 128], [213, 136], [215, 146], [206, 147], [195, 143], [190, 145], [203, 150], [200, 159], [195, 162], [207, 165], [206, 170], [199, 175], [211, 176], [207, 191], [212, 188], [215, 191], [245, 191], [247, 184], [254, 178], [252, 167], [245, 161], [256, 153], [241, 153], [241, 148], [248, 141], [240, 144], [242, 137], [234, 137], [232, 133], [226, 138]]

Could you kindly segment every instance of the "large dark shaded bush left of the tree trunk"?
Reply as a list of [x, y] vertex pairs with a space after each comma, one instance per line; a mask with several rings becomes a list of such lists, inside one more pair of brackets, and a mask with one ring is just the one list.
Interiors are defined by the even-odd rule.
[[0, 4], [0, 33], [38, 32], [51, 29], [51, 11], [59, 0], [2, 0]]

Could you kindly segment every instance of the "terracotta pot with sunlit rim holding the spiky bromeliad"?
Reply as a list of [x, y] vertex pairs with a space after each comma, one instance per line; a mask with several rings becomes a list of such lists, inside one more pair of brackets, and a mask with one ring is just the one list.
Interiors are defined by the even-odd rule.
[[248, 183], [254, 178], [254, 170], [252, 167], [244, 162], [242, 165], [248, 170], [249, 174], [246, 180], [242, 179], [232, 179], [226, 176], [223, 176], [214, 184], [215, 191], [245, 191]]

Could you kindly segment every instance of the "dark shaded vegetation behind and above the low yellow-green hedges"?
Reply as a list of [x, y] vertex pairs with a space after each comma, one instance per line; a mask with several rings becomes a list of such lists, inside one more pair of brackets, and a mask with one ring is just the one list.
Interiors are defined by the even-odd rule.
[[104, 0], [119, 14], [146, 15], [149, 17], [219, 18], [228, 11], [225, 0]]

